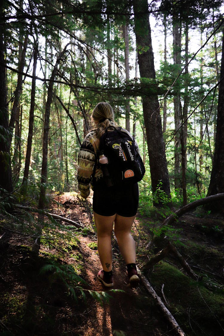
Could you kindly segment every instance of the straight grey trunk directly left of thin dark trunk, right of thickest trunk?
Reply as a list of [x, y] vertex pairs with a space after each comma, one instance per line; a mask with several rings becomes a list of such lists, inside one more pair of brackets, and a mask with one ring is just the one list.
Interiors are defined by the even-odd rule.
[[[180, 71], [181, 65], [181, 25], [179, 18], [173, 14], [173, 63], [175, 68], [176, 77]], [[174, 92], [174, 123], [175, 123], [175, 137], [174, 137], [174, 187], [175, 189], [181, 188], [180, 167], [181, 167], [181, 146], [180, 146], [180, 125], [181, 125], [181, 99], [179, 81], [176, 82]], [[178, 131], [177, 131], [178, 130]]]

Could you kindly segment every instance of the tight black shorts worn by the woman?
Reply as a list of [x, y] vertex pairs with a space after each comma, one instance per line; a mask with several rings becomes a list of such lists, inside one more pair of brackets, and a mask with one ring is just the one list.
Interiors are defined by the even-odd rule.
[[138, 183], [107, 187], [104, 182], [94, 185], [93, 211], [101, 216], [135, 216], [138, 209]]

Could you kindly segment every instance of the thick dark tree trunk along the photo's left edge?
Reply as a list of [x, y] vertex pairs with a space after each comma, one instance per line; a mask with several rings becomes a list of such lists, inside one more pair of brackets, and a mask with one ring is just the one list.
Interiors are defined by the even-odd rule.
[[[0, 21], [3, 16], [3, 2], [0, 3]], [[9, 144], [9, 116], [6, 96], [6, 77], [2, 25], [0, 25], [0, 188], [12, 192], [12, 170]]]

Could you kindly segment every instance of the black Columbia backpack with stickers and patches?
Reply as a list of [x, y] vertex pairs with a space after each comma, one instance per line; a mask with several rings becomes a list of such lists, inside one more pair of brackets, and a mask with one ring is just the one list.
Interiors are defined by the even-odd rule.
[[100, 138], [98, 158], [102, 154], [108, 159], [108, 165], [100, 165], [107, 186], [136, 183], [143, 178], [145, 167], [136, 150], [135, 140], [121, 127], [106, 128]]

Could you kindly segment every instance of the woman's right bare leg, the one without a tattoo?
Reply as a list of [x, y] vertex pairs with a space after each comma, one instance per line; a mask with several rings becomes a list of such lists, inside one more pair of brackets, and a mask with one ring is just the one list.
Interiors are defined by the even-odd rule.
[[115, 236], [126, 264], [136, 262], [135, 241], [131, 235], [131, 227], [134, 219], [135, 216], [123, 217], [120, 215], [116, 215], [115, 218]]

